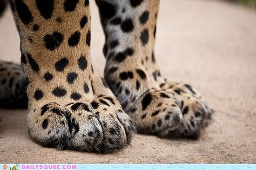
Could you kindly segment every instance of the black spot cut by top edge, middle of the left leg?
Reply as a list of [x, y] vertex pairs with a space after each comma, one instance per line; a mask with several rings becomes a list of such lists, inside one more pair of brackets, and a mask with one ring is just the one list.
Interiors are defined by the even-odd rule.
[[37, 8], [45, 19], [50, 19], [54, 9], [53, 0], [36, 0]]

